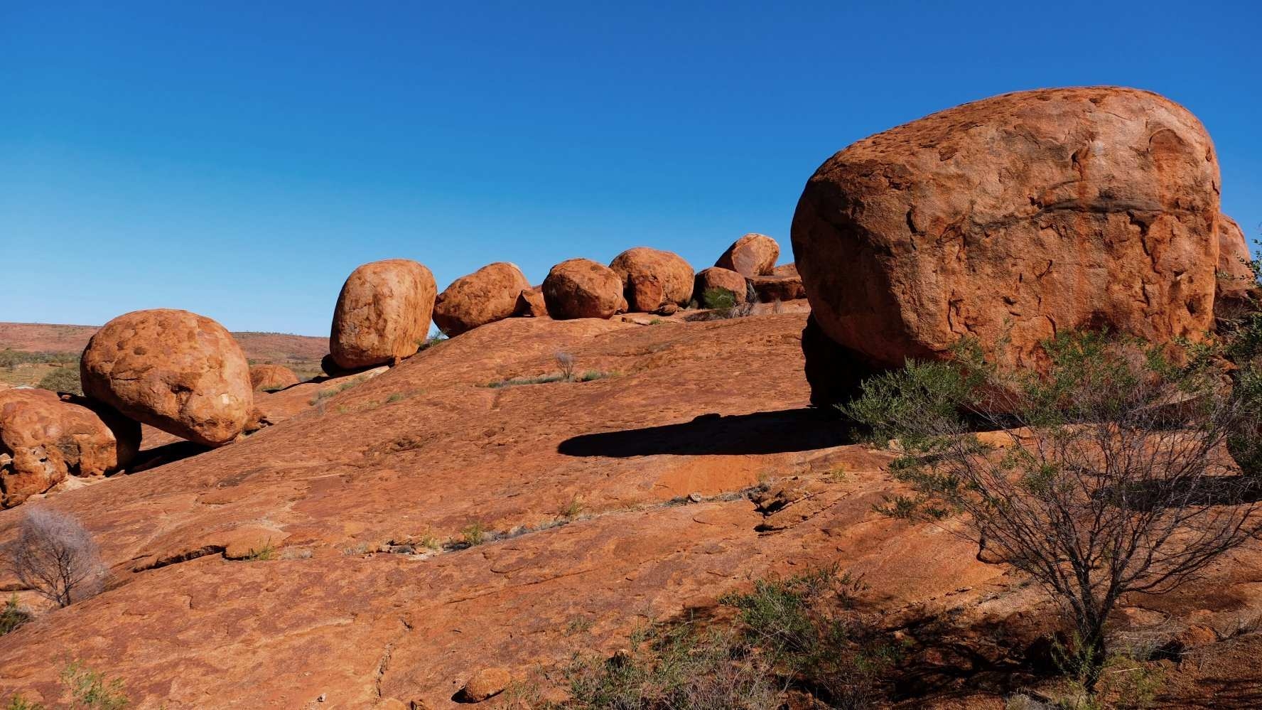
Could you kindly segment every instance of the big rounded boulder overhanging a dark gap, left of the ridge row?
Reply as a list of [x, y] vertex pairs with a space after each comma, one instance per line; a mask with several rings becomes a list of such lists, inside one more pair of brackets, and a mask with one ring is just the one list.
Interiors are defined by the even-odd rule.
[[223, 326], [158, 308], [125, 313], [88, 341], [83, 393], [164, 432], [222, 446], [254, 409], [250, 364]]

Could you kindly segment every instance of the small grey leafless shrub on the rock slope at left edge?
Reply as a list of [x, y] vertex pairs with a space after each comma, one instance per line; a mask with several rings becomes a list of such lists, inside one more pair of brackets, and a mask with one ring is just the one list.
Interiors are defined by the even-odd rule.
[[96, 542], [66, 513], [45, 508], [27, 510], [5, 557], [24, 586], [62, 608], [105, 586], [107, 570]]

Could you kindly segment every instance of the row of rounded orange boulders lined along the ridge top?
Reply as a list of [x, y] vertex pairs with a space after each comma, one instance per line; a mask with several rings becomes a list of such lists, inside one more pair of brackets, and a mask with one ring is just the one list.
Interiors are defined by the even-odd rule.
[[678, 254], [636, 246], [608, 265], [568, 259], [531, 287], [516, 265], [487, 264], [442, 293], [424, 265], [409, 259], [372, 262], [355, 269], [342, 286], [329, 334], [331, 363], [355, 370], [398, 361], [416, 352], [430, 321], [448, 336], [504, 318], [610, 318], [617, 313], [671, 313], [700, 301], [709, 288], [726, 288], [738, 302], [805, 298], [793, 264], [776, 267], [780, 246], [747, 234], [714, 267], [699, 274]]

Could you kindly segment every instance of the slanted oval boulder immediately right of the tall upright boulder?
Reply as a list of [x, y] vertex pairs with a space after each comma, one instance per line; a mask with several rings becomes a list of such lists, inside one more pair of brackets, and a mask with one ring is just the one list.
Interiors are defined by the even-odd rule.
[[434, 325], [457, 336], [512, 316], [517, 296], [530, 282], [507, 262], [487, 264], [452, 282], [434, 301]]

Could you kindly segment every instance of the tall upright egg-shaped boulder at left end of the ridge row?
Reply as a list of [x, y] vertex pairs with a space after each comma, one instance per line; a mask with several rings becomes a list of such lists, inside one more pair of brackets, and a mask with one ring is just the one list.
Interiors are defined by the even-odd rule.
[[329, 351], [345, 370], [408, 358], [429, 335], [438, 287], [410, 259], [385, 259], [351, 272], [333, 308]]

